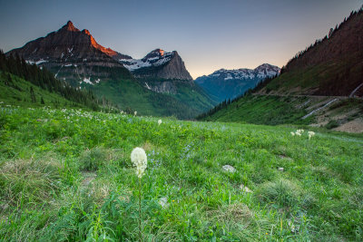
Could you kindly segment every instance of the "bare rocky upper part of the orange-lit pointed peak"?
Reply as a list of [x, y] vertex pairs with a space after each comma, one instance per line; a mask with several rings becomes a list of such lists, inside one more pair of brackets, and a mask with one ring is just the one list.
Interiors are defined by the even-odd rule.
[[115, 59], [131, 58], [98, 44], [88, 30], [80, 31], [71, 21], [58, 31], [6, 54], [18, 54], [28, 63], [44, 66], [56, 77], [74, 85], [100, 82], [110, 77], [110, 68], [127, 75], [123, 64]]

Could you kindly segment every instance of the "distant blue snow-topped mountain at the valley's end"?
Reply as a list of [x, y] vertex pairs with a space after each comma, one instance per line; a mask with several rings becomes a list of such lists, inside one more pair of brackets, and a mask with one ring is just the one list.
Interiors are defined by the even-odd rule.
[[243, 94], [250, 88], [255, 87], [261, 80], [279, 73], [280, 68], [278, 66], [264, 63], [253, 70], [221, 69], [210, 75], [198, 77], [195, 82], [201, 85], [206, 92], [218, 97], [219, 102], [222, 102]]

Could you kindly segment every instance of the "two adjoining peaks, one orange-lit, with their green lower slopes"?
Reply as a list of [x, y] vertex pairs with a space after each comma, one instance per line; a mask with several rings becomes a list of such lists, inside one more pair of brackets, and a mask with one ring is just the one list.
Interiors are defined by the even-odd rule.
[[98, 44], [88, 30], [80, 31], [71, 21], [6, 53], [11, 54], [143, 115], [190, 119], [216, 103], [192, 81], [176, 51], [156, 49], [135, 60]]

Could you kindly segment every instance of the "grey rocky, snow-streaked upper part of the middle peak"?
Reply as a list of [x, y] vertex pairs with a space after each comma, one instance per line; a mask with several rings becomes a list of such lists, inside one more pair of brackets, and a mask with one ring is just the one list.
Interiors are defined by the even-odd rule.
[[176, 51], [155, 49], [142, 59], [119, 59], [136, 77], [191, 81], [181, 56]]

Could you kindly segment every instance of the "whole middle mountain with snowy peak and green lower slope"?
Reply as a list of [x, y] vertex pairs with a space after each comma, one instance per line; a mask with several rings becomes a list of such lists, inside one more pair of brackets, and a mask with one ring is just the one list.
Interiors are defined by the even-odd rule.
[[119, 59], [146, 89], [167, 94], [190, 107], [206, 111], [216, 100], [191, 78], [178, 52], [155, 49], [142, 59]]

